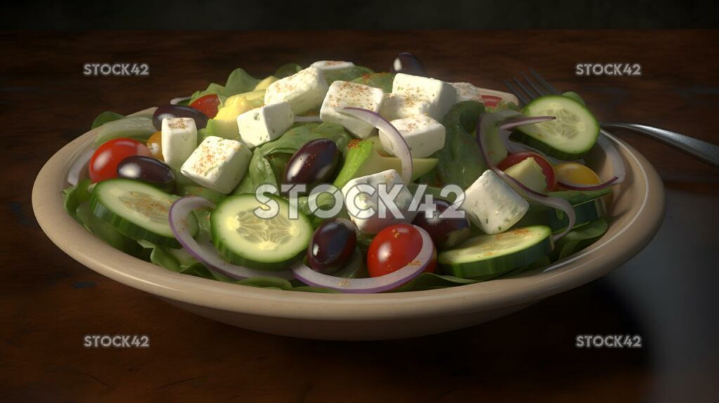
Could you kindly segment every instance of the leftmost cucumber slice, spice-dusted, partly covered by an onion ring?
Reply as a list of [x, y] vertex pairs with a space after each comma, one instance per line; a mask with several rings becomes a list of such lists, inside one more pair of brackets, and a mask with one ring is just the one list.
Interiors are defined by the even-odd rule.
[[[178, 197], [139, 180], [111, 179], [99, 182], [90, 196], [90, 208], [128, 238], [180, 248], [170, 229], [170, 205]], [[190, 231], [196, 235], [197, 221], [188, 216]]]

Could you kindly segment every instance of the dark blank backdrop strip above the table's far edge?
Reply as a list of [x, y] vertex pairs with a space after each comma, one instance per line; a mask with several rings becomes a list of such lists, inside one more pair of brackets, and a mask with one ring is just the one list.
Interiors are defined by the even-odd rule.
[[713, 28], [716, 1], [9, 1], [2, 29]]

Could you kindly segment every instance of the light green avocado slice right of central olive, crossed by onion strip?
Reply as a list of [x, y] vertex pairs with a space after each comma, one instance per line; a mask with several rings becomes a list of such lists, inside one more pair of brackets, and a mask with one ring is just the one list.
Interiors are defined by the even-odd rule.
[[[349, 180], [356, 177], [372, 175], [386, 170], [401, 172], [402, 164], [400, 159], [397, 157], [385, 157], [380, 154], [382, 150], [379, 136], [349, 142], [344, 165], [342, 165], [342, 170], [339, 171], [332, 185], [342, 189]], [[439, 159], [436, 158], [413, 158], [412, 180], [416, 180], [433, 170], [438, 161]]]

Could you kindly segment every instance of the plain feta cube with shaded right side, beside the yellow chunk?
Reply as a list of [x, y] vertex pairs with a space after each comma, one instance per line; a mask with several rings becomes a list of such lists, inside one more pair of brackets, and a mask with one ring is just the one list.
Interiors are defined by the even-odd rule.
[[239, 136], [244, 144], [255, 148], [272, 142], [285, 134], [295, 121], [290, 104], [273, 103], [245, 112], [237, 116]]

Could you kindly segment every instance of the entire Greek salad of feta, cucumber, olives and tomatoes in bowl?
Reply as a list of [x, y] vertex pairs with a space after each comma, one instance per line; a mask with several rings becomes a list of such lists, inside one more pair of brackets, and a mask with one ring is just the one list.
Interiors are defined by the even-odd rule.
[[[528, 275], [605, 233], [623, 162], [576, 93], [511, 93], [347, 61], [234, 70], [187, 98], [100, 114], [65, 208], [183, 274], [306, 292]], [[600, 147], [603, 180], [583, 158]]]

